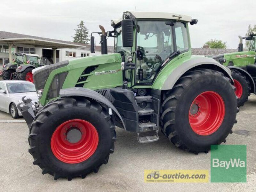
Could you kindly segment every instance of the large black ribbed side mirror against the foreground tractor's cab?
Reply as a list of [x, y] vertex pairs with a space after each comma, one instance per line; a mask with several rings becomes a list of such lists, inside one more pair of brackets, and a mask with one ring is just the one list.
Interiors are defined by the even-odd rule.
[[133, 45], [133, 23], [132, 19], [122, 20], [123, 47], [132, 47]]

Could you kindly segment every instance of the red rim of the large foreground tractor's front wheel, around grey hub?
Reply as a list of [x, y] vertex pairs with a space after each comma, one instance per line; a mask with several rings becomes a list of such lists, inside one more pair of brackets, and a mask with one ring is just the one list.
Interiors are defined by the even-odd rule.
[[[76, 143], [67, 140], [70, 130], [81, 132], [81, 139]], [[54, 156], [68, 164], [81, 163], [96, 151], [99, 135], [96, 128], [81, 119], [73, 119], [62, 123], [52, 134], [51, 149]]]

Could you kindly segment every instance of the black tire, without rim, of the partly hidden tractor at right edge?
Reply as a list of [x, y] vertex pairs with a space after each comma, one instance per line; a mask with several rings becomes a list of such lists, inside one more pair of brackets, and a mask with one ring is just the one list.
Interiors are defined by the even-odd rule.
[[[244, 103], [248, 101], [248, 98], [251, 95], [251, 84], [246, 78], [246, 76], [241, 74], [239, 71], [235, 69], [231, 69], [231, 72], [232, 72], [233, 79], [239, 82], [240, 86], [242, 86], [242, 89], [243, 89], [243, 93], [240, 96], [240, 98], [238, 98], [238, 101], [237, 101], [237, 107], [241, 107], [241, 106], [244, 106]], [[236, 86], [236, 82], [235, 82], [235, 86]]]

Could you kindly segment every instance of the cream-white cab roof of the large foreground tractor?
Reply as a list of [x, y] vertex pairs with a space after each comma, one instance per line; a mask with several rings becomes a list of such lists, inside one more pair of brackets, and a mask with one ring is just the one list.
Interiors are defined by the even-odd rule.
[[[178, 13], [167, 13], [167, 12], [135, 12], [127, 11], [124, 13], [131, 14], [132, 17], [136, 19], [170, 19], [170, 20], [181, 20], [185, 22], [191, 22], [192, 18], [187, 15], [182, 15]], [[122, 21], [121, 19], [113, 20], [115, 24]]]

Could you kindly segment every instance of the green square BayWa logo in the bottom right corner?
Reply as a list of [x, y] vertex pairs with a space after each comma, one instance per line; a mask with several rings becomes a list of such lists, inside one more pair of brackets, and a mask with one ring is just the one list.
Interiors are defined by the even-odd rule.
[[211, 182], [246, 182], [246, 145], [211, 146]]

